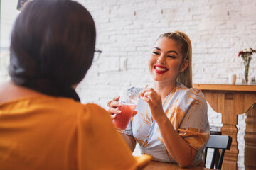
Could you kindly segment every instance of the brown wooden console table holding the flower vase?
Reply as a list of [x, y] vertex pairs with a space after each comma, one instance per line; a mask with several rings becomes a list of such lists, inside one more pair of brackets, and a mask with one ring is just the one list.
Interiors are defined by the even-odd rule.
[[[238, 115], [247, 114], [245, 130], [245, 169], [255, 169], [256, 162], [256, 85], [245, 84], [193, 84], [201, 89], [214, 111], [222, 113], [222, 135], [232, 137], [230, 151], [225, 152], [222, 169], [237, 169]], [[248, 167], [252, 168], [248, 168]]]

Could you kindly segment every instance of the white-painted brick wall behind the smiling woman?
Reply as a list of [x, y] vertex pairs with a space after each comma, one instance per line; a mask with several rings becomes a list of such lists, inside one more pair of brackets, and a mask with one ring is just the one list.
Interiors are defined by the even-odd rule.
[[[230, 73], [242, 82], [238, 52], [243, 47], [256, 48], [255, 0], [79, 1], [95, 19], [97, 48], [102, 50], [78, 86], [82, 103], [106, 108], [120, 89], [151, 84], [149, 52], [156, 38], [167, 31], [181, 30], [191, 38], [195, 83], [225, 84]], [[256, 56], [250, 64], [250, 74], [255, 73]], [[208, 118], [210, 125], [221, 126], [221, 114], [209, 110]], [[238, 119], [238, 169], [244, 169], [245, 115]]]

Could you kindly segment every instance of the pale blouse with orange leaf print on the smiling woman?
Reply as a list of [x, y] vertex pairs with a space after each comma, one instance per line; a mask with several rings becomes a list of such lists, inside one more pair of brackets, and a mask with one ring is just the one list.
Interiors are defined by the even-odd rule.
[[[142, 89], [129, 90], [139, 93]], [[188, 89], [177, 82], [176, 87], [163, 102], [163, 109], [178, 134], [191, 147], [198, 150], [192, 165], [201, 164], [203, 149], [210, 135], [207, 103], [201, 90]], [[125, 133], [132, 135], [139, 143], [142, 154], [149, 154], [151, 159], [156, 161], [176, 163], [167, 152], [159, 126], [152, 119], [148, 104], [139, 99], [136, 110], [138, 113], [130, 121]]]

